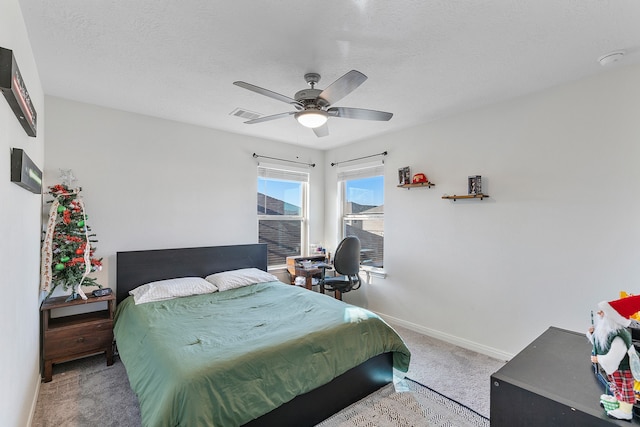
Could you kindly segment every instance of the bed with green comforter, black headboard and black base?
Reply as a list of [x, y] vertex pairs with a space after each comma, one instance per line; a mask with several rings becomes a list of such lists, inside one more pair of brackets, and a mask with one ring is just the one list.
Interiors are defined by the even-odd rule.
[[389, 383], [393, 368], [408, 370], [409, 350], [378, 316], [279, 281], [143, 304], [129, 296], [165, 279], [266, 272], [266, 245], [116, 261], [114, 334], [145, 426], [311, 426]]

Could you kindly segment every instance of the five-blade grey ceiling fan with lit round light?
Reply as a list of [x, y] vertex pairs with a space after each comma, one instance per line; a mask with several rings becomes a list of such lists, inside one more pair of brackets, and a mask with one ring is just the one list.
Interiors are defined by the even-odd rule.
[[320, 74], [307, 73], [304, 75], [304, 79], [311, 88], [296, 92], [293, 98], [250, 83], [241, 81], [233, 82], [236, 86], [291, 104], [297, 110], [259, 117], [246, 121], [245, 123], [255, 124], [294, 116], [301, 125], [313, 129], [316, 136], [322, 137], [329, 135], [329, 127], [327, 126], [329, 117], [377, 121], [388, 121], [393, 117], [393, 113], [386, 113], [384, 111], [365, 110], [363, 108], [331, 107], [331, 105], [353, 92], [367, 80], [367, 76], [360, 71], [349, 71], [324, 90], [315, 88], [315, 85], [320, 81]]

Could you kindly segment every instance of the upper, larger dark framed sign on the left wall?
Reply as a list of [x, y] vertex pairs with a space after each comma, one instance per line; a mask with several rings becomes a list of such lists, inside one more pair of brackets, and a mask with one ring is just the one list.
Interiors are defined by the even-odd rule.
[[0, 90], [29, 136], [36, 136], [38, 115], [13, 51], [0, 47]]

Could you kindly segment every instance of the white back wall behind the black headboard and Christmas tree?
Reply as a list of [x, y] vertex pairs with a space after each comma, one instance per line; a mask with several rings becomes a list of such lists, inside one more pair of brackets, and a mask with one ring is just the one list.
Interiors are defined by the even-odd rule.
[[[114, 289], [117, 251], [257, 242], [254, 152], [324, 161], [310, 148], [55, 97], [46, 97], [46, 108], [45, 182], [58, 183], [59, 169], [73, 170], [96, 256], [104, 258], [96, 277]], [[324, 171], [309, 171], [319, 190], [310, 200], [313, 242], [323, 233]]]

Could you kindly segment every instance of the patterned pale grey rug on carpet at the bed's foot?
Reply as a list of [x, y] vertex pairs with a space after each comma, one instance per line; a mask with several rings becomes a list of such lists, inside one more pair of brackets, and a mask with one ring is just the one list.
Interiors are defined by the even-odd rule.
[[408, 378], [338, 412], [318, 427], [489, 427], [468, 407]]

